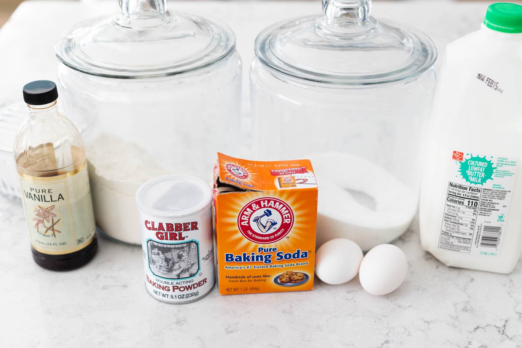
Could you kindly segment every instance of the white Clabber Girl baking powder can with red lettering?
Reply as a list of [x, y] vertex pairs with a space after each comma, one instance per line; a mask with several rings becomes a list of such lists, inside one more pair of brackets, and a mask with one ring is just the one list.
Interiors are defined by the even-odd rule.
[[152, 297], [196, 301], [214, 285], [212, 192], [203, 180], [160, 176], [136, 192], [145, 269]]

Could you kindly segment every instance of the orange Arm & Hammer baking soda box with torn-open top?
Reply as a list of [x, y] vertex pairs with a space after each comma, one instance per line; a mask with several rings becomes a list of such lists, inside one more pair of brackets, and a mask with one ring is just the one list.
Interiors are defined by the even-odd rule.
[[214, 182], [219, 293], [312, 290], [317, 183], [310, 161], [218, 153]]

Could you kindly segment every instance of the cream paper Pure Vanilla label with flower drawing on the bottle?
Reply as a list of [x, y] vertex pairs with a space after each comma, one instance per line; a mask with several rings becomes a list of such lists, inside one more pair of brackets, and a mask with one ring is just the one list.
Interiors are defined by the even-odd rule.
[[51, 177], [20, 175], [32, 247], [40, 253], [74, 253], [96, 234], [87, 163]]

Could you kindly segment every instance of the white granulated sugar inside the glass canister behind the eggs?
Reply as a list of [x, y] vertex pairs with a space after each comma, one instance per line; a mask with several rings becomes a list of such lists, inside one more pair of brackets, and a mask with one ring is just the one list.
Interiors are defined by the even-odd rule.
[[[404, 233], [417, 212], [414, 187], [384, 167], [345, 153], [311, 157], [317, 176], [317, 246], [347, 238], [362, 250], [393, 241]], [[373, 207], [357, 194], [370, 197]]]

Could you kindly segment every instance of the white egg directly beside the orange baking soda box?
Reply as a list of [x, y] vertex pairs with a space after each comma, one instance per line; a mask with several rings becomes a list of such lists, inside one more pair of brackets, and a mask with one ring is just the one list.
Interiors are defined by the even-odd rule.
[[351, 280], [361, 265], [362, 250], [350, 239], [336, 238], [323, 244], [315, 254], [315, 274], [328, 284]]

